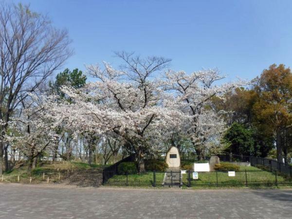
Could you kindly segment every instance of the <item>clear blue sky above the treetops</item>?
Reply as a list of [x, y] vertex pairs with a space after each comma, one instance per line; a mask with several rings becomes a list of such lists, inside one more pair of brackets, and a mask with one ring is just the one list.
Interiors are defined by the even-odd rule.
[[[19, 1], [14, 1], [19, 2]], [[64, 67], [113, 51], [171, 58], [187, 73], [217, 67], [252, 79], [276, 63], [292, 67], [292, 0], [22, 0], [66, 28], [74, 55]]]

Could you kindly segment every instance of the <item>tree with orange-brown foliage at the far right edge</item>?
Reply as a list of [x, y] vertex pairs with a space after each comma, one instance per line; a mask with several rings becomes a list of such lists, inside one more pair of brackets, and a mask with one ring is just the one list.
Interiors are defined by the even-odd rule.
[[277, 160], [288, 163], [292, 148], [292, 72], [280, 64], [271, 65], [255, 80], [258, 99], [253, 106], [253, 122], [264, 133], [274, 136]]

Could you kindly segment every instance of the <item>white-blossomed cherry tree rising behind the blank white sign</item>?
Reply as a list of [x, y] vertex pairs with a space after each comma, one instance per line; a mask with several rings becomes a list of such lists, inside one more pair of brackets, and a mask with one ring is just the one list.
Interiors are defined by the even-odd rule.
[[[225, 76], [221, 75], [217, 69], [191, 74], [183, 71], [168, 71], [165, 77], [166, 80], [163, 82], [165, 91], [174, 92], [177, 107], [191, 118], [190, 122], [184, 123], [184, 126], [187, 126], [184, 130], [191, 138], [199, 159], [202, 160], [206, 149], [205, 144], [209, 141], [210, 135], [214, 136], [216, 128], [218, 133], [224, 130], [223, 121], [218, 118], [218, 114], [212, 112], [212, 97], [217, 96], [224, 101], [224, 93], [245, 82], [237, 81], [219, 85], [218, 81]], [[206, 111], [207, 108], [211, 111]]]

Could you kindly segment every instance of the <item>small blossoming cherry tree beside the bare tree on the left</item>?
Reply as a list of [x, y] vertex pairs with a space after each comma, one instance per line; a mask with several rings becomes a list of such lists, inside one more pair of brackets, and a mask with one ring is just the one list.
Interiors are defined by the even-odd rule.
[[12, 118], [10, 125], [15, 132], [13, 135], [6, 135], [6, 141], [12, 144], [12, 148], [27, 157], [28, 175], [31, 175], [37, 158], [57, 143], [55, 130], [59, 126], [55, 115], [51, 113], [51, 102], [44, 95], [31, 94], [31, 97], [23, 103], [20, 116]]

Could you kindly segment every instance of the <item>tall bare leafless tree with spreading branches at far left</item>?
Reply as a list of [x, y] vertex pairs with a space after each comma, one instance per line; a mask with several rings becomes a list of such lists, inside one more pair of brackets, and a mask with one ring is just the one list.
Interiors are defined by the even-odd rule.
[[21, 4], [0, 6], [0, 174], [4, 135], [11, 115], [27, 92], [39, 85], [72, 55], [66, 30]]

